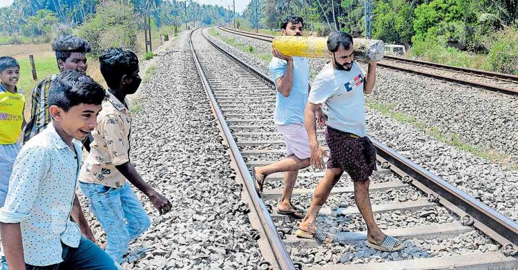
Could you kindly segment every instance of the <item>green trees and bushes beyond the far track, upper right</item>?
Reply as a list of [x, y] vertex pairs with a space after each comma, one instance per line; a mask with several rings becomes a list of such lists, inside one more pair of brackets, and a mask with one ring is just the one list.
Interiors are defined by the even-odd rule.
[[[365, 37], [367, 0], [251, 0], [248, 28], [278, 29], [295, 14], [306, 32]], [[518, 75], [518, 0], [370, 0], [372, 38], [410, 48], [410, 56]]]

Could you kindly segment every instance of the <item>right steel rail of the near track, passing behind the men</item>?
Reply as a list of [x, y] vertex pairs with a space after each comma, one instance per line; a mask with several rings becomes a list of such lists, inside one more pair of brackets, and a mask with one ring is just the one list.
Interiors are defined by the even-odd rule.
[[[265, 75], [258, 72], [256, 68], [244, 63], [244, 61], [241, 61], [238, 57], [231, 54], [231, 52], [227, 52], [209, 39], [207, 40], [240, 65], [263, 78], [265, 77]], [[267, 77], [267, 81], [269, 81], [270, 84], [274, 84], [274, 81], [270, 77]], [[417, 182], [412, 180], [411, 183], [416, 186], [417, 189], [420, 189], [430, 196], [435, 196], [439, 204], [442, 204], [446, 209], [456, 213], [461, 218], [465, 218], [466, 215], [468, 215], [466, 218], [472, 219], [474, 227], [499, 242], [503, 248], [510, 249], [510, 253], [506, 255], [516, 255], [518, 252], [518, 224], [516, 222], [491, 209], [488, 205], [468, 195], [468, 193], [452, 186], [452, 184], [446, 182], [441, 177], [430, 173], [430, 171], [425, 170], [406, 157], [396, 153], [396, 151], [381, 144], [376, 139], [370, 139], [376, 147], [378, 156], [392, 164], [392, 166], [390, 166], [392, 171], [401, 175], [401, 177], [407, 175], [412, 177], [413, 180]]]

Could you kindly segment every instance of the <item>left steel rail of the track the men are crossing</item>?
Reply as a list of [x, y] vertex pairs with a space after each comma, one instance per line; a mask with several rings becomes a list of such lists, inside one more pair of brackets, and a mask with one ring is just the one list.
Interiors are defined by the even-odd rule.
[[[202, 29], [203, 28], [201, 28], [201, 30]], [[198, 70], [198, 73], [200, 74], [200, 79], [202, 81], [203, 88], [205, 89], [205, 92], [207, 93], [207, 96], [210, 99], [211, 106], [213, 107], [213, 110], [215, 112], [216, 117], [218, 118], [218, 122], [220, 123], [222, 131], [223, 131], [225, 137], [227, 138], [227, 142], [229, 142], [229, 148], [232, 152], [234, 160], [236, 160], [236, 163], [238, 164], [239, 173], [242, 175], [242, 178], [244, 180], [244, 186], [247, 190], [248, 195], [251, 198], [251, 201], [253, 204], [253, 209], [255, 209], [256, 213], [258, 213], [258, 218], [260, 219], [262, 229], [265, 231], [268, 243], [271, 247], [271, 250], [274, 253], [274, 258], [276, 259], [276, 264], [279, 269], [294, 270], [295, 269], [294, 264], [291, 261], [291, 258], [289, 257], [288, 252], [286, 251], [284, 243], [280, 239], [276, 226], [274, 225], [274, 221], [271, 220], [271, 216], [269, 214], [267, 207], [265, 206], [265, 203], [262, 202], [259, 195], [257, 194], [255, 184], [253, 183], [253, 178], [248, 171], [247, 164], [246, 164], [246, 162], [244, 162], [244, 159], [241, 155], [238, 145], [236, 144], [235, 140], [233, 139], [230, 128], [229, 128], [227, 122], [225, 121], [224, 116], [220, 110], [220, 107], [218, 106], [218, 102], [216, 102], [215, 97], [212, 93], [211, 86], [209, 85], [209, 81], [207, 80], [207, 77], [205, 76], [205, 73], [202, 69], [200, 60], [198, 59], [198, 55], [196, 55], [196, 51], [194, 49], [193, 41], [192, 41], [193, 32], [196, 30], [200, 30], [200, 28], [191, 31], [191, 33], [189, 35], [189, 46], [191, 47], [193, 59], [195, 61], [196, 69]], [[201, 32], [201, 30], [200, 30], [200, 32]], [[207, 39], [207, 37], [205, 37], [203, 35], [203, 33], [202, 33], [202, 36], [205, 39]]]

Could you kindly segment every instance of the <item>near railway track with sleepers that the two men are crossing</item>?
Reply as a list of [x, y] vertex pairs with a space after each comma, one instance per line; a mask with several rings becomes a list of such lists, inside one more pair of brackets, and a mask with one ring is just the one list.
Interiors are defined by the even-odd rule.
[[[365, 224], [353, 206], [352, 182], [346, 174], [317, 220], [320, 228], [334, 233], [337, 242], [320, 245], [294, 237], [297, 222], [272, 210], [282, 193], [282, 175], [269, 175], [260, 199], [249, 171], [250, 166], [269, 164], [284, 155], [282, 137], [273, 123], [271, 79], [210, 41], [203, 29], [191, 32], [191, 50], [237, 173], [244, 180], [251, 210], [260, 220], [260, 235], [267, 238], [261, 251], [271, 258], [271, 269], [518, 268], [518, 224], [374, 139], [378, 171], [370, 187], [373, 211], [382, 229], [403, 240], [405, 248], [385, 254], [365, 247]], [[323, 131], [318, 131], [318, 137], [323, 139]], [[311, 168], [301, 171], [294, 202], [307, 206], [322, 175]], [[464, 243], [465, 238], [478, 239], [477, 247], [434, 244]]]

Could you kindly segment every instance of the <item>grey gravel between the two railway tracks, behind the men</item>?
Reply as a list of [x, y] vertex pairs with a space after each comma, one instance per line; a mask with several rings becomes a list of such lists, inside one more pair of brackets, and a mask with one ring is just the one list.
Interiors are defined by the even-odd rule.
[[[269, 52], [265, 44], [271, 45], [266, 41], [217, 31], [220, 36], [235, 38], [236, 43], [250, 44], [262, 52]], [[216, 37], [209, 37], [269, 75], [266, 61]], [[309, 60], [314, 74], [325, 64], [325, 59]], [[386, 68], [378, 68], [374, 93], [366, 97], [374, 102], [395, 104], [397, 110], [439, 128], [440, 133], [466, 134], [468, 137], [462, 139], [472, 144], [496, 150], [501, 148], [510, 156], [518, 155], [518, 97]], [[518, 171], [439, 142], [376, 110], [367, 109], [367, 134], [518, 221]]]

